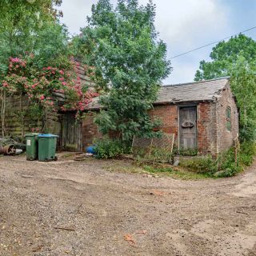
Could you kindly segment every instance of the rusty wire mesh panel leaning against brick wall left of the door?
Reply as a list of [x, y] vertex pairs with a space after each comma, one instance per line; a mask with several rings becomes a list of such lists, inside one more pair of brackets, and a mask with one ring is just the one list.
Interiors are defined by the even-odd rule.
[[133, 154], [155, 162], [170, 162], [174, 148], [174, 134], [162, 134], [160, 138], [134, 136]]

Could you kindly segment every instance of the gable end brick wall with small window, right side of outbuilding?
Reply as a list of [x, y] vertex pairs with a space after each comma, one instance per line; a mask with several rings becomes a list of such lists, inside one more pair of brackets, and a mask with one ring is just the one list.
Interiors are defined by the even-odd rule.
[[[222, 97], [218, 100], [218, 153], [228, 150], [234, 143], [234, 138], [238, 134], [238, 109], [234, 101], [230, 86], [226, 86], [222, 92]], [[226, 128], [226, 108], [231, 109], [231, 131]]]

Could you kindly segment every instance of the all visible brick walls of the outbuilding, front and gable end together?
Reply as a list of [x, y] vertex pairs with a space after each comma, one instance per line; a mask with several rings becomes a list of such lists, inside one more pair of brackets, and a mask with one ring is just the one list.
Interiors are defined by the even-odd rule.
[[[231, 132], [226, 130], [226, 106], [231, 108]], [[162, 121], [160, 130], [175, 134], [175, 144], [178, 146], [178, 106], [170, 104], [154, 106], [149, 114], [151, 118]], [[238, 111], [230, 87], [226, 87], [218, 102], [198, 103], [197, 118], [197, 144], [200, 154], [216, 155], [232, 146], [234, 137], [238, 134]], [[82, 122], [83, 145], [90, 145], [94, 138], [102, 138], [102, 134], [94, 124], [94, 114], [89, 114]]]

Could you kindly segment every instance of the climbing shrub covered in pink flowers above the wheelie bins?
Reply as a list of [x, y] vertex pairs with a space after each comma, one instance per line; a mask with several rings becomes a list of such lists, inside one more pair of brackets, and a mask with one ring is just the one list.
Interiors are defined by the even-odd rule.
[[30, 102], [39, 107], [56, 110], [56, 94], [65, 96], [62, 111], [81, 112], [97, 93], [86, 90], [78, 75], [78, 63], [71, 62], [70, 69], [46, 66], [38, 70], [33, 62], [33, 55], [24, 58], [10, 58], [9, 70], [2, 80], [2, 90], [7, 95], [26, 94]]

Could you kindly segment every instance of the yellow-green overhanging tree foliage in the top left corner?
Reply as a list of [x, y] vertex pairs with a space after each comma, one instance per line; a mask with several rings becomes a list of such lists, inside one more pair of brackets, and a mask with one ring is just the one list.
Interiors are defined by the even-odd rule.
[[0, 1], [0, 75], [7, 72], [8, 58], [34, 50], [38, 31], [60, 14], [61, 0]]

